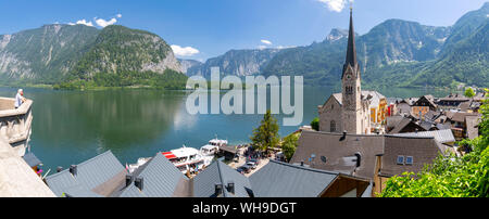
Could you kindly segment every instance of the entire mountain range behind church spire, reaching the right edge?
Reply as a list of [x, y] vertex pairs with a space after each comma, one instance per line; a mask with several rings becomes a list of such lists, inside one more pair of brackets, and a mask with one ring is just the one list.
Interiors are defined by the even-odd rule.
[[[489, 86], [487, 23], [489, 3], [451, 27], [388, 20], [356, 37], [356, 52], [367, 87]], [[304, 82], [338, 86], [346, 56], [346, 30], [333, 29], [323, 42], [281, 51], [262, 72], [302, 75]]]

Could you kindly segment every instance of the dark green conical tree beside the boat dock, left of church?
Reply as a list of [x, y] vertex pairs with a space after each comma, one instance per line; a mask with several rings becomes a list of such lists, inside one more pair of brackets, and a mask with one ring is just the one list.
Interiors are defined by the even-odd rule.
[[260, 127], [253, 129], [253, 137], [251, 137], [251, 145], [263, 152], [276, 146], [279, 143], [277, 119], [272, 116], [272, 113], [266, 111], [263, 116]]

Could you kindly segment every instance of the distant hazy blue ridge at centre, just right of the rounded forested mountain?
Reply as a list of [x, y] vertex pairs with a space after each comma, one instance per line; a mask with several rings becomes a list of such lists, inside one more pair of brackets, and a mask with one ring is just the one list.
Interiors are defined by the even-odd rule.
[[278, 53], [280, 49], [263, 50], [230, 50], [225, 54], [209, 59], [202, 65], [196, 65], [187, 70], [187, 75], [210, 77], [211, 67], [218, 66], [222, 75], [247, 76], [262, 72], [263, 66]]

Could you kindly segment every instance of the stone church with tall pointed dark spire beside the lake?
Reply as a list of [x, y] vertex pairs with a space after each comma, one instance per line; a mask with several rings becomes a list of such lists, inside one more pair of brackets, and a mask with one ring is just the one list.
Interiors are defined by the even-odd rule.
[[[341, 93], [335, 93], [318, 106], [319, 131], [348, 132], [353, 134], [384, 133], [376, 114], [385, 114], [379, 107], [386, 98], [376, 91], [363, 91], [361, 68], [356, 60], [353, 12], [350, 9], [347, 60], [341, 75]], [[376, 110], [376, 111], [375, 111]], [[385, 118], [384, 115], [381, 115]], [[374, 120], [373, 120], [374, 118]], [[375, 127], [374, 127], [375, 126]]]

